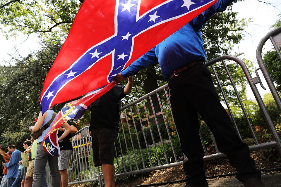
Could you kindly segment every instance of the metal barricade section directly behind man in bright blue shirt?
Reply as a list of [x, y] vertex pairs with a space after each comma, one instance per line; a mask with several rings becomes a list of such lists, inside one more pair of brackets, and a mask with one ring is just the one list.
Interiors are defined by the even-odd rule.
[[[242, 70], [243, 70], [243, 72], [244, 72], [244, 74], [246, 76], [246, 79], [247, 79], [247, 81], [249, 83], [249, 86], [251, 87], [251, 89], [252, 89], [252, 91], [254, 93], [254, 96], [255, 96], [255, 98], [256, 98], [256, 100], [258, 102], [258, 105], [261, 108], [264, 116], [266, 117], [265, 120], [266, 120], [266, 122], [268, 124], [268, 127], [270, 128], [270, 130], [272, 132], [272, 136], [274, 138], [274, 141], [270, 141], [270, 142], [266, 142], [266, 143], [259, 143], [258, 142], [258, 140], [257, 140], [257, 138], [255, 136], [253, 127], [251, 126], [251, 122], [249, 120], [247, 112], [245, 110], [245, 107], [244, 107], [244, 105], [242, 103], [242, 100], [241, 100], [241, 98], [239, 96], [237, 88], [236, 88], [236, 86], [234, 84], [234, 81], [232, 79], [231, 73], [229, 72], [228, 67], [226, 65], [226, 62], [225, 62], [226, 60], [231, 60], [231, 61], [237, 63], [238, 65], [240, 65], [240, 67], [242, 68]], [[277, 134], [277, 131], [276, 131], [275, 127], [274, 127], [274, 124], [273, 124], [272, 120], [270, 119], [268, 111], [266, 110], [265, 105], [263, 103], [263, 100], [262, 100], [262, 98], [261, 98], [261, 96], [260, 96], [260, 94], [259, 94], [259, 92], [258, 92], [258, 90], [256, 88], [256, 85], [255, 85], [256, 83], [253, 82], [256, 79], [256, 77], [254, 77], [254, 78], [251, 77], [251, 74], [250, 74], [248, 68], [246, 67], [244, 62], [241, 61], [239, 58], [234, 57], [234, 56], [230, 56], [230, 55], [220, 56], [218, 58], [215, 58], [215, 59], [209, 61], [208, 63], [206, 63], [206, 65], [210, 66], [212, 68], [213, 72], [214, 72], [214, 75], [216, 77], [217, 83], [218, 83], [218, 85], [220, 87], [220, 90], [222, 91], [222, 95], [223, 95], [223, 98], [225, 100], [225, 105], [228, 108], [228, 111], [229, 111], [230, 116], [232, 118], [234, 127], [237, 130], [237, 134], [239, 135], [239, 137], [241, 138], [241, 135], [239, 133], [239, 129], [237, 127], [237, 124], [235, 122], [234, 116], [232, 114], [232, 110], [231, 110], [231, 108], [229, 106], [229, 103], [227, 101], [227, 97], [226, 97], [226, 95], [225, 95], [225, 93], [223, 91], [222, 85], [221, 85], [220, 80], [219, 80], [219, 76], [217, 75], [217, 73], [215, 71], [215, 68], [213, 66], [217, 62], [222, 62], [224, 67], [225, 67], [225, 71], [226, 71], [227, 75], [229, 76], [229, 79], [231, 80], [231, 83], [232, 83], [233, 89], [234, 89], [234, 91], [235, 91], [235, 93], [237, 95], [237, 99], [239, 101], [240, 107], [243, 110], [244, 117], [246, 118], [246, 121], [247, 121], [247, 124], [248, 124], [248, 127], [249, 127], [249, 131], [251, 131], [251, 134], [253, 135], [253, 139], [254, 139], [254, 141], [256, 143], [256, 145], [249, 146], [249, 149], [252, 151], [252, 150], [259, 150], [259, 149], [275, 147], [275, 146], [279, 149], [280, 137]], [[173, 143], [172, 143], [172, 140], [171, 140], [170, 132], [168, 130], [168, 123], [167, 123], [167, 120], [166, 120], [166, 116], [169, 116], [169, 115], [173, 116], [172, 112], [170, 110], [171, 109], [171, 105], [169, 103], [169, 99], [168, 99], [168, 95], [167, 95], [167, 86], [168, 85], [166, 84], [166, 85], [156, 89], [155, 91], [152, 91], [151, 93], [148, 93], [147, 95], [137, 99], [136, 101], [133, 101], [132, 103], [129, 103], [128, 105], [126, 105], [126, 106], [124, 106], [123, 108], [120, 109], [121, 113], [124, 114], [123, 116], [126, 119], [125, 120], [125, 124], [126, 125], [121, 125], [122, 132], [123, 132], [122, 135], [123, 135], [124, 141], [126, 143], [126, 150], [125, 150], [125, 152], [127, 153], [126, 155], [122, 154], [122, 160], [124, 160], [124, 157], [126, 157], [126, 160], [127, 160], [127, 157], [130, 158], [130, 159], [128, 159], [128, 166], [129, 166], [129, 168], [128, 169], [125, 168], [123, 172], [120, 172], [120, 169], [119, 169], [119, 173], [116, 174], [116, 176], [123, 176], [123, 175], [131, 175], [131, 174], [149, 172], [149, 171], [153, 171], [153, 170], [157, 170], [157, 169], [164, 169], [164, 168], [167, 168], [167, 167], [173, 167], [173, 166], [181, 165], [181, 162], [173, 162], [173, 163], [169, 162], [168, 161], [169, 158], [167, 158], [167, 155], [166, 155], [166, 152], [165, 152], [164, 144], [165, 143], [169, 143], [169, 144], [171, 144], [171, 149], [172, 149], [172, 152], [173, 152], [172, 156], [174, 157], [174, 160], [177, 160], [177, 156], [179, 156], [179, 155], [175, 154], [176, 151], [175, 151], [175, 149], [173, 147]], [[161, 92], [163, 93], [162, 96], [160, 95]], [[153, 107], [153, 105], [156, 104], [156, 103], [152, 102], [152, 97], [154, 95], [156, 95], [157, 99], [158, 99], [158, 103], [157, 104], [160, 106], [160, 111], [159, 112], [155, 112], [154, 107]], [[165, 99], [163, 99], [163, 98], [165, 98]], [[168, 106], [169, 110], [166, 110], [166, 112], [164, 111], [163, 106], [162, 106], [163, 101], [168, 103], [167, 106]], [[141, 105], [142, 109], [144, 110], [144, 117], [141, 117], [140, 105]], [[148, 110], [147, 110], [147, 106], [148, 105], [150, 105], [152, 107], [152, 110], [151, 110], [152, 113], [150, 115], [148, 115]], [[133, 107], [136, 108], [136, 110], [134, 110], [136, 112], [133, 112], [133, 109], [132, 109]], [[129, 112], [127, 112], [127, 110]], [[129, 127], [129, 122], [128, 122], [129, 121], [128, 120], [128, 113], [131, 113], [131, 119], [130, 120], [132, 120], [132, 127], [134, 128], [133, 130], [134, 130], [134, 132], [135, 132], [134, 134], [136, 135], [136, 138], [137, 138], [137, 143], [133, 143], [133, 137], [131, 136], [131, 129]], [[136, 129], [136, 121], [135, 121], [136, 117], [135, 116], [138, 117], [138, 121], [140, 122], [141, 127], [142, 127], [142, 129], [141, 129], [142, 132], [140, 132], [140, 133], [136, 133], [137, 129]], [[162, 117], [162, 121], [164, 122], [165, 127], [167, 129], [168, 138], [165, 141], [163, 140], [163, 138], [161, 138], [162, 136], [161, 136], [161, 132], [160, 132], [159, 124], [158, 124], [158, 120], [159, 119], [157, 119], [158, 116]], [[120, 117], [121, 117], [121, 115], [120, 115]], [[155, 124], [157, 126], [157, 132], [158, 132], [158, 134], [160, 136], [160, 142], [159, 143], [154, 141], [153, 136], [155, 136], [155, 134], [153, 134], [152, 130], [151, 130], [151, 121], [150, 121], [151, 119], [154, 120], [154, 122], [155, 122]], [[147, 124], [148, 124], [147, 128], [149, 128], [150, 134], [145, 134], [144, 128], [143, 128], [143, 124], [142, 124], [143, 122], [147, 122]], [[169, 123], [171, 123], [171, 121]], [[128, 131], [129, 136], [125, 136], [125, 133], [124, 133], [124, 129], [125, 128], [126, 128], [126, 131]], [[152, 141], [153, 141], [153, 145], [152, 146], [148, 145], [148, 143], [146, 142], [146, 138], [144, 138], [144, 142], [145, 142], [146, 150], [148, 152], [148, 159], [150, 161], [150, 166], [153, 165], [152, 162], [151, 162], [151, 155], [149, 153], [151, 151], [151, 150], [149, 150], [150, 147], [153, 147], [154, 150], [155, 150], [155, 157], [157, 158], [157, 165], [156, 166], [152, 166], [152, 167], [150, 167], [148, 165], [145, 165], [145, 163], [144, 163], [144, 159], [145, 158], [143, 158], [143, 156], [141, 155], [143, 168], [140, 169], [138, 167], [138, 165], [136, 165], [136, 169], [132, 169], [132, 164], [131, 163], [132, 162], [136, 162], [136, 156], [137, 156], [136, 153], [135, 153], [135, 149], [139, 149], [140, 150], [140, 140], [138, 138], [138, 134], [141, 134], [141, 133], [145, 134], [144, 137], [147, 137], [147, 136], [151, 136], [152, 137]], [[210, 159], [214, 159], [214, 158], [219, 158], [219, 157], [225, 156], [225, 154], [219, 152], [219, 150], [217, 148], [216, 141], [215, 141], [215, 139], [213, 137], [213, 134], [211, 132], [210, 132], [210, 135], [212, 136], [216, 153], [213, 153], [213, 154], [209, 154], [208, 153], [207, 149], [204, 146], [204, 141], [203, 141], [203, 138], [202, 138], [201, 133], [200, 133], [201, 143], [202, 143], [202, 146], [203, 146], [204, 152], [205, 152], [205, 156], [204, 156], [203, 159], [204, 160], [210, 160]], [[127, 137], [129, 137], [128, 140], [126, 140]], [[118, 139], [120, 141], [120, 137], [119, 136], [118, 136]], [[130, 144], [128, 142], [130, 142]], [[158, 154], [157, 154], [157, 146], [158, 147], [161, 146], [162, 149], [163, 149], [163, 153], [165, 155], [165, 160], [166, 160], [165, 164], [160, 164], [159, 157], [158, 157]], [[121, 147], [121, 145], [120, 145], [120, 147]], [[135, 148], [135, 147], [138, 147], [138, 148]], [[133, 153], [133, 156], [128, 154], [128, 150], [132, 150], [131, 153]], [[121, 148], [121, 153], [122, 153], [122, 148]], [[140, 151], [139, 153], [143, 153], [143, 152]], [[119, 165], [120, 165], [120, 163], [119, 163]], [[124, 162], [123, 162], [123, 165], [124, 165]]]

